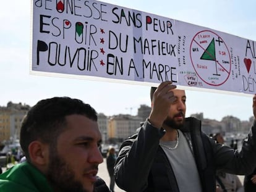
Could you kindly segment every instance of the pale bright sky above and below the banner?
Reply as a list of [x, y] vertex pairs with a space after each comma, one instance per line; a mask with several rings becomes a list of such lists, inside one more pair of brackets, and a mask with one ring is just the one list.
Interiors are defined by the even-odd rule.
[[[103, 2], [256, 40], [256, 1], [253, 0]], [[54, 96], [81, 99], [105, 115], [135, 115], [141, 104], [150, 106], [148, 85], [31, 75], [31, 14], [30, 0], [1, 1], [0, 106], [6, 106], [9, 101], [33, 106], [40, 99]], [[204, 118], [216, 120], [226, 115], [241, 120], [252, 116], [252, 95], [193, 90], [186, 90], [186, 95], [187, 117], [201, 112]]]

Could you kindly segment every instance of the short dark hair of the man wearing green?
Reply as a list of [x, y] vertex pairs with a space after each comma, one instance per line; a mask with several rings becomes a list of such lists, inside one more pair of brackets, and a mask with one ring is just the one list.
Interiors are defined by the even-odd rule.
[[66, 128], [66, 116], [72, 114], [85, 115], [97, 121], [95, 109], [79, 99], [54, 97], [38, 101], [23, 119], [20, 128], [20, 146], [30, 161], [28, 146], [32, 141], [54, 143], [59, 134]]

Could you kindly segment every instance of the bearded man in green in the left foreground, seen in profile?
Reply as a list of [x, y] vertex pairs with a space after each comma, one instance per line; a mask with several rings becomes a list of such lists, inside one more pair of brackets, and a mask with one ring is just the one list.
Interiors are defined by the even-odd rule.
[[103, 157], [95, 109], [79, 99], [43, 99], [20, 129], [26, 161], [0, 175], [0, 191], [109, 191], [99, 177]]

